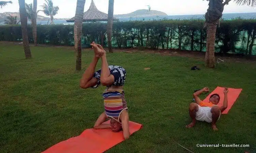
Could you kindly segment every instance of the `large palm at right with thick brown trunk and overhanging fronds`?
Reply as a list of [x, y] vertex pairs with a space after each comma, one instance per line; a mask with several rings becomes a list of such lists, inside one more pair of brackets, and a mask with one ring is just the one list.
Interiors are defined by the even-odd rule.
[[[219, 19], [222, 17], [224, 6], [231, 0], [207, 0], [209, 1], [209, 8], [205, 13], [205, 26], [207, 27], [207, 44], [205, 53], [205, 65], [207, 67], [215, 67], [215, 34]], [[256, 5], [256, 0], [235, 0], [239, 5]]]

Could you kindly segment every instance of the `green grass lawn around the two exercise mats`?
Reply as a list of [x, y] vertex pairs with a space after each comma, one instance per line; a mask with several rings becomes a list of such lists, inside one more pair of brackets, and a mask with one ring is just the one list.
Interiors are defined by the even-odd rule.
[[[79, 80], [93, 58], [82, 52], [82, 71], [75, 72], [75, 52], [61, 47], [0, 45], [0, 146], [2, 153], [39, 153], [92, 128], [103, 112], [104, 87], [80, 89]], [[256, 68], [252, 64], [225, 63], [215, 69], [191, 58], [146, 53], [115, 52], [109, 64], [127, 71], [125, 96], [130, 120], [143, 128], [108, 150], [124, 153], [256, 152]], [[97, 69], [101, 63], [98, 63]], [[201, 71], [191, 71], [198, 65]], [[150, 70], [144, 70], [150, 67]], [[217, 86], [243, 88], [228, 114], [213, 132], [208, 123], [193, 129], [188, 106], [194, 90]], [[207, 94], [200, 97], [204, 99]], [[199, 148], [196, 144], [250, 144], [249, 148]]]

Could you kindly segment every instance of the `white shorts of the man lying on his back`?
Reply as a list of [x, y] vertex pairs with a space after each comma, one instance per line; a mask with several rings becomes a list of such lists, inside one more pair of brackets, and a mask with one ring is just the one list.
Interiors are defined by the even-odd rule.
[[[212, 109], [211, 107], [201, 107], [198, 105], [198, 111], [196, 112], [196, 120], [211, 123], [212, 122], [211, 109]], [[219, 111], [219, 118], [220, 117], [221, 117], [221, 111]]]

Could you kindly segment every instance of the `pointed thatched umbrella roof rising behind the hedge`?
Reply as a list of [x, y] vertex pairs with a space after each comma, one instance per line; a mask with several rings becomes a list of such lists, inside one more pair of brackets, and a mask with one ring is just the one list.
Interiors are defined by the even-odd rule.
[[[117, 20], [115, 17], [114, 20]], [[66, 20], [67, 22], [74, 22], [75, 17], [72, 17], [71, 19]], [[94, 4], [94, 1], [91, 0], [91, 5], [89, 9], [84, 12], [83, 22], [96, 22], [96, 21], [108, 21], [108, 14], [103, 13], [97, 9], [97, 7]]]

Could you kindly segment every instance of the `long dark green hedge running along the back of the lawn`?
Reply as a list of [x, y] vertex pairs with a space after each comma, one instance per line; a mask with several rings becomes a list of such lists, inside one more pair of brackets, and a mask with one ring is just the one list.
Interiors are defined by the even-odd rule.
[[[182, 49], [205, 51], [204, 20], [155, 20], [114, 22], [114, 47], [144, 47], [150, 49]], [[39, 44], [74, 45], [74, 25], [38, 25]], [[83, 24], [82, 44], [95, 41], [107, 46], [106, 23]], [[224, 20], [216, 32], [216, 52], [255, 55], [256, 20]], [[28, 25], [29, 41], [33, 42], [32, 27]], [[0, 26], [0, 41], [22, 41], [20, 25]], [[255, 42], [256, 44], [256, 42]]]

